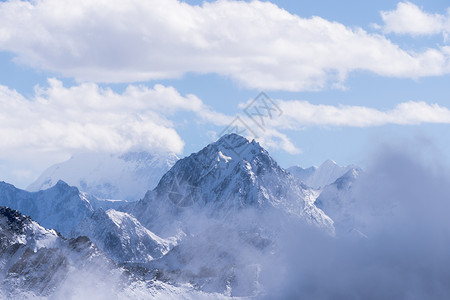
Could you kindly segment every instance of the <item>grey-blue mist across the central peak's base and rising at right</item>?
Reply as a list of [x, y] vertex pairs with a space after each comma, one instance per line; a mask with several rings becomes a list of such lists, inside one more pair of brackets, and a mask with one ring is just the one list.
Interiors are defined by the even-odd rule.
[[49, 299], [450, 299], [450, 168], [441, 157], [427, 140], [374, 147], [339, 194], [348, 199], [336, 199], [351, 215], [345, 226], [335, 219], [345, 229], [336, 234], [276, 208], [173, 213], [164, 202], [149, 229], [177, 233], [170, 252], [134, 268], [100, 251], [81, 263], [71, 251]]

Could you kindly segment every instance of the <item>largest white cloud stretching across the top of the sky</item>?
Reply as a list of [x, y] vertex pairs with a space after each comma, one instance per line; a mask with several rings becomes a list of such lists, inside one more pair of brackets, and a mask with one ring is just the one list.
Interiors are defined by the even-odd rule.
[[263, 90], [322, 89], [355, 70], [402, 78], [450, 71], [445, 48], [405, 51], [383, 35], [261, 1], [0, 2], [0, 50], [79, 81], [197, 72]]

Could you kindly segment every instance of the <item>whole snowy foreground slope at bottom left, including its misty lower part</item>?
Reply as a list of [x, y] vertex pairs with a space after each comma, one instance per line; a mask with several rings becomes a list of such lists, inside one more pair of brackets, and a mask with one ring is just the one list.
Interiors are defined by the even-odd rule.
[[229, 298], [190, 284], [141, 278], [115, 265], [89, 238], [66, 240], [30, 217], [0, 207], [0, 299]]

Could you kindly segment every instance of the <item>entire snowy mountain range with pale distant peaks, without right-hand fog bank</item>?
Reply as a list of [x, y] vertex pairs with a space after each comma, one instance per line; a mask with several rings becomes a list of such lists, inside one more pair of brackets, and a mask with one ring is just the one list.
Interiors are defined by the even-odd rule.
[[[114, 293], [125, 298], [259, 296], [262, 262], [276, 257], [287, 227], [334, 236], [336, 228], [351, 224], [339, 203], [357, 180], [357, 168], [328, 161], [289, 172], [257, 142], [236, 134], [183, 159], [170, 157], [78, 156], [51, 167], [31, 186], [47, 189], [29, 192], [0, 183], [0, 206], [8, 207], [0, 209], [2, 293], [58, 297], [67, 288], [73, 294], [67, 278], [92, 271], [100, 278], [115, 274], [105, 284], [120, 282]], [[139, 201], [98, 197], [136, 200], [172, 163]], [[139, 174], [144, 178], [128, 186]], [[78, 187], [59, 180], [63, 175]], [[42, 257], [51, 259], [39, 264]]]

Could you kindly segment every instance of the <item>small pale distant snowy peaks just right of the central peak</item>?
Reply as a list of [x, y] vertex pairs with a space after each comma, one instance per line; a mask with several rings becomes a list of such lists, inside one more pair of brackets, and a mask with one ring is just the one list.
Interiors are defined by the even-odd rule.
[[307, 186], [318, 189], [328, 184], [332, 184], [336, 179], [355, 168], [357, 167], [354, 165], [341, 167], [336, 164], [336, 162], [329, 159], [319, 167], [313, 166], [304, 169], [300, 166], [293, 166], [287, 168], [287, 170]]

